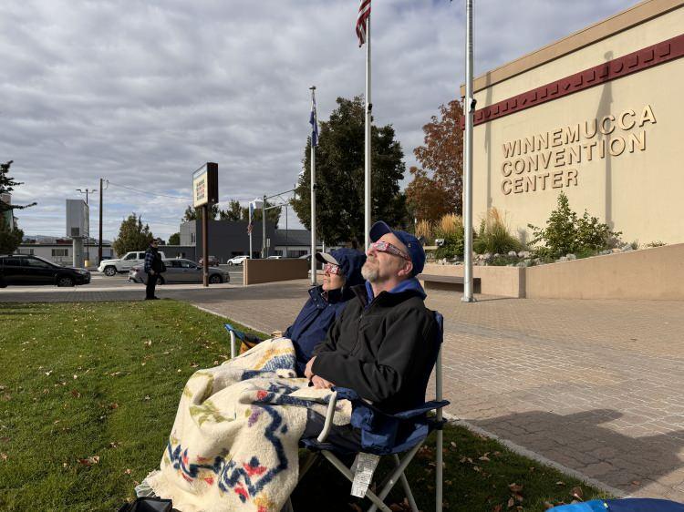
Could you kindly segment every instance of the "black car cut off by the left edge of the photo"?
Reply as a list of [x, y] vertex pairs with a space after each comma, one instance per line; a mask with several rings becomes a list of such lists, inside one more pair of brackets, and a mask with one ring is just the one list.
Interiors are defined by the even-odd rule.
[[88, 284], [90, 272], [61, 267], [39, 256], [8, 254], [0, 256], [0, 288], [8, 284], [53, 284], [74, 286]]

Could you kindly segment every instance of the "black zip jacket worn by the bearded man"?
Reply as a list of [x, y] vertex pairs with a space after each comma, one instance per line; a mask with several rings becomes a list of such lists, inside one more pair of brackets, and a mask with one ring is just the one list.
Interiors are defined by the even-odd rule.
[[356, 297], [316, 348], [314, 374], [390, 414], [423, 404], [438, 326], [420, 282], [409, 279], [375, 298], [368, 283], [352, 291]]

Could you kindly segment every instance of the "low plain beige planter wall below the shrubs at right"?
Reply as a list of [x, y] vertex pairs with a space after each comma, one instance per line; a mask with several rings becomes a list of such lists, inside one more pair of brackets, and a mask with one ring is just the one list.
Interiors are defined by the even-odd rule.
[[527, 298], [684, 301], [684, 243], [530, 267]]

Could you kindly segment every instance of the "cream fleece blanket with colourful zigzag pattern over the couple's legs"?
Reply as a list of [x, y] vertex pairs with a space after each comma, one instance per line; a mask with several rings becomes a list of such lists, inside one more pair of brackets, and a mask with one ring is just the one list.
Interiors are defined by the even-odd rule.
[[[192, 375], [181, 395], [161, 469], [146, 482], [182, 512], [278, 512], [299, 475], [306, 409], [326, 414], [329, 391], [295, 376], [295, 348], [266, 340]], [[338, 403], [336, 424], [351, 407]]]

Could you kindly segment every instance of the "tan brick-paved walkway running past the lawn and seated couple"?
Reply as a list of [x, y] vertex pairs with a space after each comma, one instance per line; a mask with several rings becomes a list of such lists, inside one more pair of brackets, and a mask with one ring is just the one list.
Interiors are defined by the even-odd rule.
[[[192, 302], [271, 332], [306, 288]], [[623, 493], [684, 501], [684, 303], [478, 299], [428, 297], [445, 317], [448, 413]]]

